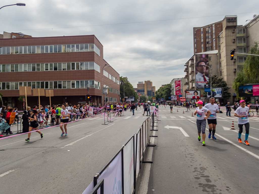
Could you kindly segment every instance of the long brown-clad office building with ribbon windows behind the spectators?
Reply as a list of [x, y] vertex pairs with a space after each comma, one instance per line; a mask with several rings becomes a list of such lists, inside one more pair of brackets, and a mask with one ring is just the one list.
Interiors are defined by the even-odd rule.
[[[103, 70], [103, 46], [95, 35], [0, 39], [0, 92], [4, 105], [21, 109], [19, 87], [53, 89], [52, 104], [102, 103], [101, 83], [109, 85], [108, 102], [119, 102], [119, 74]], [[109, 65], [109, 64], [108, 64]], [[106, 65], [106, 66], [108, 66]], [[107, 86], [108, 87], [108, 86]], [[33, 92], [32, 92], [33, 94]], [[104, 101], [104, 95], [103, 95]], [[28, 106], [39, 104], [38, 97], [27, 96]], [[40, 97], [49, 105], [49, 97]]]

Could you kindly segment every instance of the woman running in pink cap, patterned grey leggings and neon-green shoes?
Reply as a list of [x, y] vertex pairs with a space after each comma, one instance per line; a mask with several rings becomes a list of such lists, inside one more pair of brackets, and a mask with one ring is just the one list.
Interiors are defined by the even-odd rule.
[[[200, 132], [202, 132], [202, 145], [205, 146], [206, 119], [211, 115], [211, 111], [203, 107], [203, 101], [199, 100], [198, 102], [195, 102], [195, 103], [198, 106], [194, 112], [194, 115], [197, 114], [196, 125], [198, 129], [198, 141], [200, 141]], [[206, 113], [208, 113], [207, 116], [205, 116]]]

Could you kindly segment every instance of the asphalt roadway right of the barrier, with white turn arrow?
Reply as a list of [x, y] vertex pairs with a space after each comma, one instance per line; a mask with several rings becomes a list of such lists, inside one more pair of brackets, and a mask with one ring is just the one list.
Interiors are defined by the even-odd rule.
[[[136, 193], [259, 193], [258, 117], [249, 119], [250, 146], [237, 140], [238, 124], [233, 111], [231, 117], [217, 114], [217, 139], [208, 139], [206, 130], [206, 146], [202, 146], [196, 117], [191, 117], [194, 109], [186, 112], [178, 108], [176, 112], [174, 107], [170, 113], [168, 106], [161, 106], [159, 110], [161, 121], [154, 140], [157, 146], [148, 147], [144, 158], [153, 163], [142, 164]], [[230, 130], [232, 121], [236, 130]]]

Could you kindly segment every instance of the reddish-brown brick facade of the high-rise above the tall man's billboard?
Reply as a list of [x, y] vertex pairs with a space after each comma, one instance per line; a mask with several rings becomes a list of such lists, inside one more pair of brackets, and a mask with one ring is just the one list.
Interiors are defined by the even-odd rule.
[[222, 21], [203, 27], [193, 28], [193, 52], [202, 53], [218, 50], [218, 35], [222, 31]]

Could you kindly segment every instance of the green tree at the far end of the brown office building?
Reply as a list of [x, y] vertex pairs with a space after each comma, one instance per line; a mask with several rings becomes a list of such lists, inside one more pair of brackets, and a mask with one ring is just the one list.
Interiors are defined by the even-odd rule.
[[[138, 101], [138, 93], [135, 92], [134, 87], [131, 85], [131, 83], [128, 81], [127, 77], [120, 77], [120, 81], [122, 81], [122, 85], [120, 85], [120, 97], [121, 99], [124, 98], [124, 93], [125, 96], [134, 96], [135, 102]], [[123, 93], [124, 91], [124, 93]]]

